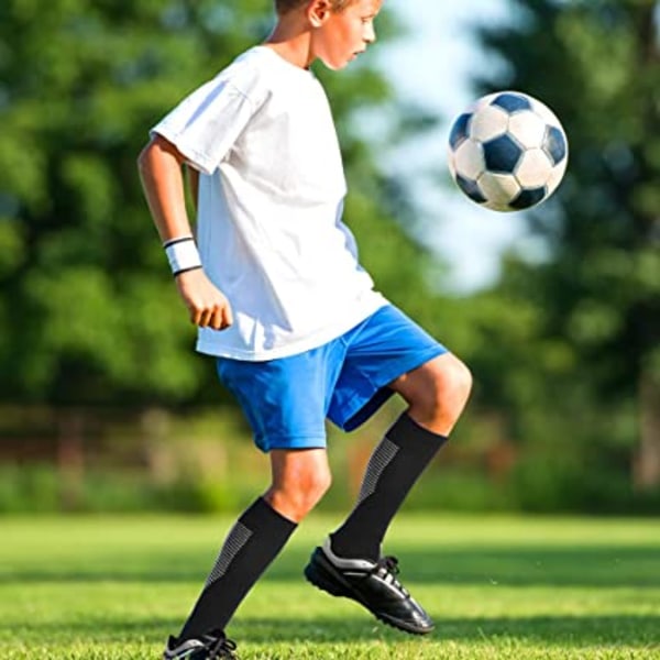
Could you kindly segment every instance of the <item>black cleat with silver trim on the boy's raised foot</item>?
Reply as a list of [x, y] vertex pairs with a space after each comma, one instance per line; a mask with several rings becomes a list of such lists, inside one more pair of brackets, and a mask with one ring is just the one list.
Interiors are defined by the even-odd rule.
[[337, 557], [327, 539], [311, 553], [305, 576], [332, 596], [344, 596], [366, 607], [376, 618], [405, 632], [426, 635], [435, 628], [431, 617], [396, 579], [398, 561], [383, 557], [365, 559]]

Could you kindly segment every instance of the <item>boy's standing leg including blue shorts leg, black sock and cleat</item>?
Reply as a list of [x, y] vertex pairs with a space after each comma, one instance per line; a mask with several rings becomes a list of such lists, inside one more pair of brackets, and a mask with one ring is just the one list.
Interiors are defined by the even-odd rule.
[[326, 400], [343, 351], [343, 343], [336, 341], [265, 362], [218, 360], [218, 375], [241, 405], [256, 446], [270, 457], [272, 483], [230, 531], [165, 660], [197, 660], [187, 646], [217, 634], [223, 637], [245, 595], [328, 488]]

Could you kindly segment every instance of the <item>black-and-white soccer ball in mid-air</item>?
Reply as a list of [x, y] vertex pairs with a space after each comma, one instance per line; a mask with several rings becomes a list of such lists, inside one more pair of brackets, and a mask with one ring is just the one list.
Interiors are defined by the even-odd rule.
[[554, 113], [519, 91], [491, 94], [457, 118], [449, 169], [472, 201], [519, 211], [548, 199], [566, 170], [569, 144]]

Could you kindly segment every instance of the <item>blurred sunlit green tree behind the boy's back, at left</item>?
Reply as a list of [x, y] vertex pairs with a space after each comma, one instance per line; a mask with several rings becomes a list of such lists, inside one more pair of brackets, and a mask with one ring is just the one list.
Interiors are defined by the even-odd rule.
[[[270, 0], [0, 4], [1, 399], [136, 407], [217, 399], [212, 365], [190, 356], [193, 328], [135, 157], [148, 128], [262, 40], [272, 20]], [[392, 90], [369, 66], [319, 75], [331, 88], [350, 178], [360, 183], [349, 222], [359, 237], [377, 237], [377, 246], [363, 241], [376, 275], [394, 283], [386, 271], [396, 268], [397, 289], [406, 290], [422, 266], [350, 122], [356, 109], [389, 108]]]

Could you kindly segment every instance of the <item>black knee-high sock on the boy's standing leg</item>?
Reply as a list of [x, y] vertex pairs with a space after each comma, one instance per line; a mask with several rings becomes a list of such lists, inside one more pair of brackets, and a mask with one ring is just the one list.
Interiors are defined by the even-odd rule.
[[224, 540], [179, 639], [224, 629], [250, 588], [279, 553], [296, 527], [265, 499], [256, 499], [241, 515]]

